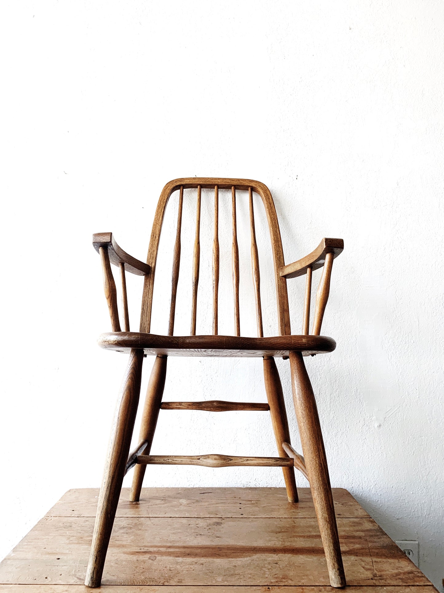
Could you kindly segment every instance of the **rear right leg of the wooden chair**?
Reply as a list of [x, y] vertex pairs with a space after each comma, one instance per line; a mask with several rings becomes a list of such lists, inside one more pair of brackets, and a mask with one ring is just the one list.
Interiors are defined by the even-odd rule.
[[[271, 423], [275, 433], [276, 445], [278, 445], [278, 455], [279, 457], [288, 457], [287, 453], [282, 449], [283, 442], [290, 442], [287, 410], [285, 410], [281, 379], [279, 378], [275, 359], [272, 356], [264, 356], [263, 358], [263, 378], [265, 380], [265, 391], [270, 406]], [[282, 471], [284, 473], [289, 502], [298, 502], [294, 467], [282, 467]]]

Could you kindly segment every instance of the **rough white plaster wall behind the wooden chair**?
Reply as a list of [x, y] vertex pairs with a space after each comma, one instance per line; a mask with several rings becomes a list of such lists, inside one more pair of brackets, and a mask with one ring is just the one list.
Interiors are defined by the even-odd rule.
[[[239, 176], [270, 187], [287, 262], [322, 237], [345, 240], [323, 327], [337, 349], [307, 360], [332, 483], [350, 490], [392, 538], [419, 540], [420, 568], [440, 586], [442, 2], [44, 0], [4, 2], [1, 11], [0, 555], [65, 490], [99, 485], [126, 357], [95, 344], [109, 321], [92, 232], [114, 232], [144, 259], [166, 181]], [[208, 227], [211, 196], [202, 208]], [[242, 196], [239, 211], [242, 226]], [[228, 215], [221, 199], [221, 316], [230, 332]], [[190, 211], [178, 331], [189, 326], [193, 224]], [[254, 334], [248, 234], [239, 234], [243, 333]], [[258, 238], [270, 334], [274, 292], [259, 213]], [[157, 297], [162, 286], [169, 291], [170, 252], [165, 244]], [[141, 282], [128, 284], [136, 327]], [[295, 333], [302, 285], [288, 286]], [[153, 331], [165, 331], [168, 298], [156, 301]], [[168, 366], [165, 398], [265, 400], [260, 360], [170, 359]], [[300, 447], [288, 363], [278, 367]], [[165, 412], [153, 445], [166, 454], [274, 451], [269, 416], [258, 413]], [[282, 484], [279, 469], [146, 474], [147, 486]]]

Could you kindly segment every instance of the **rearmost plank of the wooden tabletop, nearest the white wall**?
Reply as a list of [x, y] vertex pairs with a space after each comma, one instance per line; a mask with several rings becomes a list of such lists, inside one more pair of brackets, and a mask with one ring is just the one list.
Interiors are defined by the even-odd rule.
[[[367, 518], [343, 488], [333, 488], [334, 512], [343, 519]], [[68, 490], [46, 517], [95, 517], [99, 489]], [[140, 503], [123, 488], [116, 517], [280, 517], [316, 519], [310, 488], [298, 488], [299, 502], [288, 502], [285, 488], [142, 488]]]

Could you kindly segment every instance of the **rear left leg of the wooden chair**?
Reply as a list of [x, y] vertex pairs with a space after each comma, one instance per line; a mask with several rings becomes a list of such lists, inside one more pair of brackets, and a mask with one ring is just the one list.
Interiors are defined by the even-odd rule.
[[[148, 441], [143, 455], [149, 455], [156, 430], [157, 417], [159, 416], [160, 404], [162, 403], [163, 388], [166, 377], [166, 356], [156, 356], [151, 371], [150, 380], [146, 390], [143, 416], [140, 423], [139, 442]], [[130, 501], [139, 502], [140, 490], [146, 466], [137, 465], [134, 468], [133, 484], [131, 485]]]

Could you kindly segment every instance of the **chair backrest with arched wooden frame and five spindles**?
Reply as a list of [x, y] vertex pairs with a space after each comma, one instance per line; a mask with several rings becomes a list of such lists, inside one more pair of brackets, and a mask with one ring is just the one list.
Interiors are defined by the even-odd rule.
[[237, 221], [236, 221], [236, 191], [243, 190], [249, 193], [250, 209], [250, 234], [251, 234], [251, 257], [252, 273], [256, 297], [256, 321], [258, 336], [263, 336], [262, 308], [260, 304], [260, 272], [258, 246], [256, 244], [255, 215], [253, 211], [253, 192], [262, 199], [265, 207], [266, 217], [271, 238], [271, 248], [274, 260], [276, 302], [278, 308], [279, 334], [282, 336], [291, 334], [287, 280], [283, 278], [279, 270], [284, 266], [284, 253], [282, 251], [281, 233], [279, 231], [278, 218], [271, 193], [263, 183], [252, 179], [227, 179], [213, 177], [191, 177], [169, 181], [160, 194], [159, 203], [155, 213], [153, 228], [150, 238], [147, 264], [150, 266], [150, 273], [145, 276], [142, 308], [140, 315], [140, 331], [149, 333], [151, 325], [151, 313], [153, 306], [153, 289], [155, 282], [157, 252], [159, 250], [160, 232], [165, 215], [168, 200], [173, 192], [179, 192], [179, 209], [176, 227], [175, 246], [173, 251], [172, 266], [172, 288], [170, 301], [170, 314], [168, 334], [172, 335], [174, 330], [174, 318], [176, 308], [176, 292], [179, 279], [179, 267], [181, 262], [181, 225], [182, 208], [184, 203], [184, 189], [195, 189], [197, 200], [197, 215], [195, 225], [195, 242], [192, 266], [192, 304], [191, 304], [191, 335], [196, 333], [197, 318], [197, 292], [200, 270], [200, 224], [201, 224], [201, 191], [202, 189], [214, 189], [214, 241], [213, 241], [213, 334], [218, 333], [218, 285], [219, 285], [219, 240], [218, 240], [218, 200], [219, 190], [231, 190], [231, 219], [233, 243], [231, 249], [233, 269], [233, 294], [234, 294], [234, 328], [236, 336], [240, 336], [240, 312], [239, 312], [239, 248], [237, 245]]

